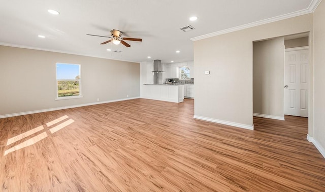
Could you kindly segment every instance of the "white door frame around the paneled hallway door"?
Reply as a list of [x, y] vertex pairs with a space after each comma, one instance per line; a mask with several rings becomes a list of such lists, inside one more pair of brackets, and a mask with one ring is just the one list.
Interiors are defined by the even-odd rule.
[[[309, 65], [309, 78], [308, 78], [308, 82], [307, 82], [307, 86], [308, 86], [308, 91], [307, 91], [307, 97], [308, 97], [308, 117], [307, 118], [309, 118], [310, 117], [310, 113], [309, 113], [309, 111], [310, 111], [310, 81], [311, 81], [311, 71], [310, 71], [310, 57], [311, 57], [311, 54], [310, 54], [310, 49], [309, 49], [309, 46], [303, 46], [303, 47], [293, 47], [293, 48], [287, 48], [287, 49], [284, 49], [284, 55], [285, 55], [285, 52], [290, 52], [290, 51], [301, 51], [301, 50], [308, 50], [308, 57], [309, 57], [309, 63], [308, 63], [308, 65]], [[283, 87], [285, 86], [285, 56], [284, 56], [284, 66], [283, 66], [284, 68], [284, 76], [283, 76]], [[284, 113], [284, 111], [285, 111], [285, 91], [283, 91], [283, 114], [285, 115], [285, 113]], [[309, 119], [308, 119], [308, 121], [309, 121]], [[308, 123], [308, 129], [309, 129], [309, 123]]]

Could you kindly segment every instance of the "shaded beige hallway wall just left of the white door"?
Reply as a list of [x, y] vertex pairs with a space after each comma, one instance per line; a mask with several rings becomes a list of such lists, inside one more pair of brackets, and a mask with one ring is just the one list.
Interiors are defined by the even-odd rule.
[[284, 38], [253, 43], [253, 113], [284, 120]]

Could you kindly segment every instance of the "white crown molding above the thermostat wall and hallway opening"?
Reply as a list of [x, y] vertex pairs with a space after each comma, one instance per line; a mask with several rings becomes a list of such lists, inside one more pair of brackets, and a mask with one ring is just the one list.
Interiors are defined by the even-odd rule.
[[190, 40], [192, 40], [192, 41], [203, 40], [203, 39], [207, 39], [207, 38], [210, 38], [210, 37], [219, 36], [219, 35], [222, 35], [222, 34], [228, 34], [228, 33], [231, 33], [231, 32], [237, 31], [237, 30], [242, 30], [242, 29], [246, 29], [246, 28], [250, 28], [250, 27], [254, 27], [254, 26], [258, 26], [258, 25], [263, 25], [263, 24], [272, 23], [272, 22], [275, 22], [275, 21], [288, 19], [288, 18], [291, 18], [291, 17], [297, 17], [297, 16], [313, 13], [316, 10], [317, 6], [320, 4], [320, 2], [321, 2], [321, 0], [312, 0], [312, 2], [309, 4], [307, 9], [303, 9], [303, 10], [296, 11], [296, 12], [293, 12], [293, 13], [288, 13], [288, 14], [272, 17], [272, 18], [269, 18], [269, 19], [255, 21], [255, 22], [252, 22], [252, 23], [244, 24], [244, 25], [239, 25], [239, 26], [236, 26], [236, 27], [228, 28], [228, 29], [219, 30], [219, 31], [216, 31], [216, 32], [213, 32], [213, 33], [210, 33], [210, 34], [206, 34], [206, 35], [191, 38]]

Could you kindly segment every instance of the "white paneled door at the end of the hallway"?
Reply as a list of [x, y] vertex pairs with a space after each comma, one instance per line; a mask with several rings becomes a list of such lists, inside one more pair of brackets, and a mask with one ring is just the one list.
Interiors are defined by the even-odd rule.
[[[299, 49], [299, 48], [298, 48]], [[290, 51], [288, 51], [290, 50]], [[309, 50], [285, 50], [284, 114], [308, 117]]]

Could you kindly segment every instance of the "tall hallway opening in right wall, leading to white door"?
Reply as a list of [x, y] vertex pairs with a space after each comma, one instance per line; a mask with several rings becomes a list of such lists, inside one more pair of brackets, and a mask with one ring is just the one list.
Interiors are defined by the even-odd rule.
[[[305, 62], [309, 61], [308, 42], [309, 33], [253, 42], [253, 116], [278, 120], [285, 120], [284, 115], [308, 117], [310, 72], [309, 62], [307, 65]], [[287, 52], [302, 51], [297, 52], [296, 58], [302, 58], [304, 63], [297, 64], [295, 69], [292, 63], [285, 66], [284, 61], [289, 54], [285, 54], [286, 48], [290, 48]], [[289, 72], [291, 77], [285, 77], [285, 73]], [[290, 78], [303, 85], [295, 88], [293, 84], [288, 84]], [[285, 85], [288, 87], [284, 88]], [[294, 88], [295, 91], [292, 90]], [[287, 112], [285, 108], [290, 107], [302, 109], [300, 111], [303, 111], [303, 114]]]

